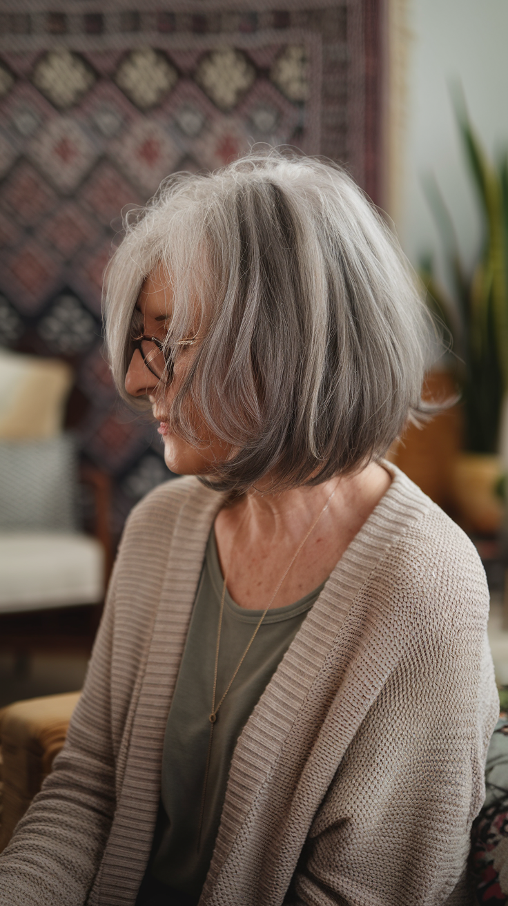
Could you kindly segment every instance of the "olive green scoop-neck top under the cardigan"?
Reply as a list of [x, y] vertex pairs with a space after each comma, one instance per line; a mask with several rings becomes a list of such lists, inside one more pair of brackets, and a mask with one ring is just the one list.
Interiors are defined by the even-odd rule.
[[[244, 724], [322, 585], [300, 601], [270, 610], [218, 712], [213, 730], [206, 801], [198, 839], [206, 754], [210, 739], [216, 639], [223, 576], [212, 530], [196, 593], [186, 647], [168, 714], [162, 757], [161, 804], [149, 872], [175, 892], [199, 899], [210, 864], [225, 797], [229, 765]], [[239, 607], [225, 592], [216, 704], [263, 613]]]

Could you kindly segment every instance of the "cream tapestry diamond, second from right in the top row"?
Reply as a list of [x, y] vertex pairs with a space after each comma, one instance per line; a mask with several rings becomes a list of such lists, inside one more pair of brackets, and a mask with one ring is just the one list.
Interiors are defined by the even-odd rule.
[[253, 64], [233, 47], [207, 53], [196, 69], [197, 84], [222, 111], [231, 111], [255, 79]]

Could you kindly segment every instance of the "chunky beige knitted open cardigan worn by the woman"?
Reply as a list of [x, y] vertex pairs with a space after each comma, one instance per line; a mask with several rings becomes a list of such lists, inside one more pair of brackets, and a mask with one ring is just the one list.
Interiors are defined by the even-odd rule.
[[[390, 468], [239, 737], [200, 906], [473, 901], [465, 861], [499, 709], [484, 571]], [[5, 906], [134, 903], [222, 500], [186, 477], [129, 517], [67, 742], [0, 857]]]

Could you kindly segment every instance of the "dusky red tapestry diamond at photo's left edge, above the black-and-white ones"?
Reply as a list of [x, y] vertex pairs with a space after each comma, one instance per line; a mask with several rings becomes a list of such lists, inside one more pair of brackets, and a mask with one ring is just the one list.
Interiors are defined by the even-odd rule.
[[18, 308], [36, 312], [58, 283], [61, 266], [34, 239], [29, 239], [21, 251], [6, 260], [2, 269], [5, 289], [15, 298]]

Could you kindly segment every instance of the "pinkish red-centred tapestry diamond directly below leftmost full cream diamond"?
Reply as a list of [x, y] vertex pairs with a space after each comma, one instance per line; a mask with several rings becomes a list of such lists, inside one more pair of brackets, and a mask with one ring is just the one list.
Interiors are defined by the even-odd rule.
[[53, 185], [71, 193], [91, 169], [98, 152], [71, 117], [49, 123], [32, 141], [29, 157], [43, 170]]

